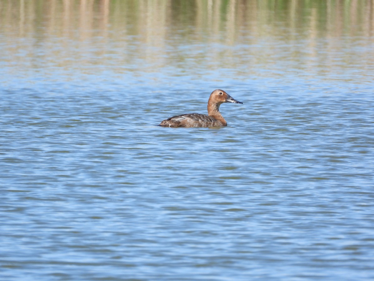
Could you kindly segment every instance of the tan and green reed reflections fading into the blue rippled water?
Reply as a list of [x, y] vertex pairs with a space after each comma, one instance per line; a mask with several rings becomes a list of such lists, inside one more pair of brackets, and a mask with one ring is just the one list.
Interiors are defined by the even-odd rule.
[[[121, 51], [98, 49], [87, 56], [89, 63], [99, 64], [103, 54], [121, 54], [116, 59], [123, 65], [140, 58], [156, 67], [170, 61], [187, 67], [191, 59], [213, 69], [220, 62], [270, 67], [283, 48], [284, 61], [303, 56], [313, 64], [316, 57], [335, 60], [344, 46], [333, 39], [343, 35], [373, 42], [374, 0], [0, 0], [0, 36], [9, 54], [16, 52], [11, 47], [16, 38], [32, 37], [36, 46], [61, 40], [62, 48], [50, 50], [49, 57], [64, 56], [66, 65], [69, 60], [88, 63], [76, 57], [69, 42], [93, 52], [95, 42], [105, 46], [109, 40]], [[293, 40], [304, 40], [303, 48]], [[189, 56], [178, 50], [184, 42], [197, 46]], [[242, 53], [217, 48], [235, 44], [245, 45]], [[34, 54], [35, 46], [29, 48]], [[373, 57], [365, 58], [368, 64]], [[354, 63], [350, 54], [343, 59]]]

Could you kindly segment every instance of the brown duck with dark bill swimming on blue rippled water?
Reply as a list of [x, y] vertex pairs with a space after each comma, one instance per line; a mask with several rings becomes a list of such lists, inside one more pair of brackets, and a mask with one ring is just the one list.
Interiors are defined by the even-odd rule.
[[233, 99], [225, 91], [217, 89], [212, 91], [208, 100], [208, 115], [200, 113], [188, 113], [173, 116], [163, 120], [161, 127], [225, 127], [226, 120], [220, 113], [220, 105], [225, 102], [242, 103]]

